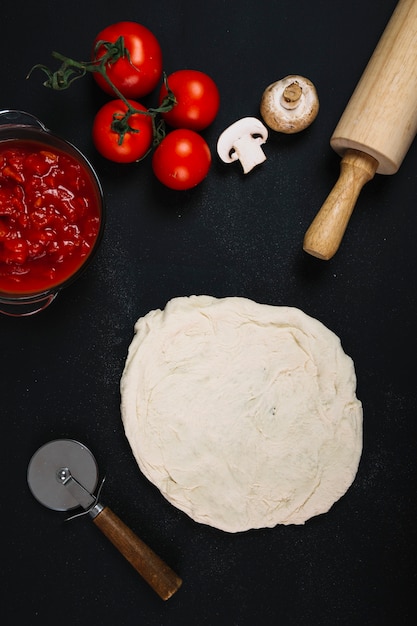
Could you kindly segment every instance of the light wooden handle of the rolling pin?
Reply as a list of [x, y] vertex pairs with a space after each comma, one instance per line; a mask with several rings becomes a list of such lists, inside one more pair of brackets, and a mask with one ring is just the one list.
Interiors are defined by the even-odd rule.
[[305, 252], [325, 261], [334, 256], [362, 187], [374, 177], [377, 167], [378, 161], [369, 154], [346, 151], [339, 179], [305, 234]]

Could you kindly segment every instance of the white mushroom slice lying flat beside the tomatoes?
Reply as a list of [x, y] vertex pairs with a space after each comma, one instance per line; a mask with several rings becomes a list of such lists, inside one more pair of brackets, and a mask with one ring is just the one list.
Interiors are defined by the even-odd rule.
[[261, 145], [268, 139], [268, 129], [256, 117], [243, 117], [222, 132], [217, 153], [224, 163], [240, 161], [244, 174], [266, 160]]

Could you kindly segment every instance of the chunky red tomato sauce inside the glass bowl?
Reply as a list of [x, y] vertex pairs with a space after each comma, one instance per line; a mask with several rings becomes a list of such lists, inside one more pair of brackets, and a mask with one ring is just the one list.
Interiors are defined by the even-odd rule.
[[100, 230], [98, 192], [72, 156], [34, 141], [0, 144], [0, 292], [46, 291], [72, 276]]

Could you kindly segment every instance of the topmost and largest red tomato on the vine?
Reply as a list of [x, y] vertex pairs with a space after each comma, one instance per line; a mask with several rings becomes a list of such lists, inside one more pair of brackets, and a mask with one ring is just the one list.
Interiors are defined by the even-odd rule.
[[[123, 57], [106, 65], [106, 73], [125, 98], [141, 98], [157, 86], [162, 76], [162, 51], [155, 35], [136, 22], [118, 22], [104, 28], [94, 39], [93, 59], [100, 59], [106, 52], [105, 46], [96, 46], [100, 41], [114, 43], [124, 39], [129, 58]], [[98, 72], [93, 76], [97, 84], [111, 95], [115, 92]]]

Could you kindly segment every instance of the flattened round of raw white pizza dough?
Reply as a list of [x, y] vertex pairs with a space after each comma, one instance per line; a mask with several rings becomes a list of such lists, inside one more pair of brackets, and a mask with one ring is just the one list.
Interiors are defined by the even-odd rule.
[[355, 478], [362, 405], [339, 338], [293, 307], [179, 297], [135, 325], [121, 378], [141, 471], [227, 532], [303, 524]]

